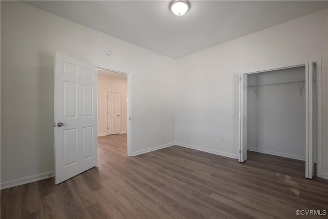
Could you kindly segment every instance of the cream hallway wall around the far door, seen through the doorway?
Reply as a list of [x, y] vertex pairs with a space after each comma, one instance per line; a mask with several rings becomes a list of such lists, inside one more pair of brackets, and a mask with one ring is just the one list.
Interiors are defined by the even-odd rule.
[[[101, 71], [102, 72], [102, 71]], [[98, 73], [98, 136], [107, 135], [106, 105], [107, 92], [120, 94], [120, 133], [127, 133], [127, 90], [125, 78]], [[117, 73], [118, 74], [118, 73]]]

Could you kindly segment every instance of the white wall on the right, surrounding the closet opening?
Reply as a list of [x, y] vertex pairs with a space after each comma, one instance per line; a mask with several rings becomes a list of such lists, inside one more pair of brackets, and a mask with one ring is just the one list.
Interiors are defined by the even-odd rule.
[[323, 173], [327, 174], [327, 10], [178, 59], [177, 144], [236, 157], [238, 73], [290, 66], [320, 57], [324, 89]]

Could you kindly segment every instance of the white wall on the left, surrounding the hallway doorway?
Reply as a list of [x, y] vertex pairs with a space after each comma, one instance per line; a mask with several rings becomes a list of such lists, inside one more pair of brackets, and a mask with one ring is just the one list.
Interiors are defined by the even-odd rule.
[[132, 73], [134, 152], [175, 142], [173, 59], [20, 2], [1, 2], [1, 30], [2, 185], [54, 170], [56, 51]]

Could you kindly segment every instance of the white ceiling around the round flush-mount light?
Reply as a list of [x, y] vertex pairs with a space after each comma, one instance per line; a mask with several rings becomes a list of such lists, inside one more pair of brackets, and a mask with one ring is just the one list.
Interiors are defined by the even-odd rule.
[[156, 53], [180, 58], [327, 7], [327, 1], [26, 1], [70, 21]]

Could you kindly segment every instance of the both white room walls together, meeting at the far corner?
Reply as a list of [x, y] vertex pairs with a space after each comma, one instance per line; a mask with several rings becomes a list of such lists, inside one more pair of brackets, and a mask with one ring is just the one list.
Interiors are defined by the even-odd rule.
[[238, 150], [237, 73], [322, 57], [328, 177], [327, 23], [323, 10], [174, 61], [24, 3], [2, 1], [1, 182], [54, 169], [55, 51], [133, 74], [135, 153], [176, 140], [231, 157]]

